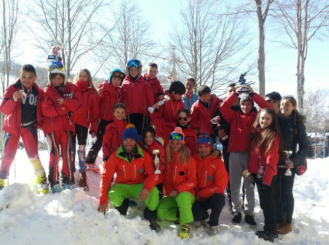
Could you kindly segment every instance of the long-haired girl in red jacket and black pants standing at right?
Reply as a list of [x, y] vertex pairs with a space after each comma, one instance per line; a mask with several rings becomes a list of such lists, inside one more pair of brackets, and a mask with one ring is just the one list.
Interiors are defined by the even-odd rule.
[[278, 237], [274, 182], [279, 162], [280, 127], [272, 109], [261, 110], [253, 124], [253, 139], [249, 159], [249, 172], [256, 183], [260, 208], [264, 215], [264, 228], [255, 234], [266, 241]]

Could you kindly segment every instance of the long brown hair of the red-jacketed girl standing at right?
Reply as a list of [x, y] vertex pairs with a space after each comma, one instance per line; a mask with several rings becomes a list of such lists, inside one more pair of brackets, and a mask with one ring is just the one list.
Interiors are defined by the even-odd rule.
[[[266, 128], [261, 129], [259, 118], [262, 112], [270, 114], [272, 122]], [[273, 109], [265, 108], [258, 112], [253, 124], [254, 132], [252, 137], [252, 147], [259, 151], [265, 151], [265, 154], [271, 149], [276, 137], [279, 137], [280, 143], [282, 143], [281, 130], [278, 123], [277, 113]], [[280, 148], [282, 144], [279, 144]], [[279, 153], [281, 149], [279, 149]]]

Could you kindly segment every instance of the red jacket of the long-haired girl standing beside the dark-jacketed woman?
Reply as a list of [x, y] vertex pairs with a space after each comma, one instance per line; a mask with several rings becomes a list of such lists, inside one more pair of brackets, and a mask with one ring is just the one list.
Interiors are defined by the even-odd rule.
[[265, 155], [264, 149], [255, 148], [255, 142], [251, 144], [251, 152], [249, 158], [249, 172], [258, 173], [258, 169], [264, 166], [264, 174], [262, 184], [270, 186], [272, 183], [273, 176], [277, 175], [279, 162], [279, 137], [275, 137], [270, 150]]

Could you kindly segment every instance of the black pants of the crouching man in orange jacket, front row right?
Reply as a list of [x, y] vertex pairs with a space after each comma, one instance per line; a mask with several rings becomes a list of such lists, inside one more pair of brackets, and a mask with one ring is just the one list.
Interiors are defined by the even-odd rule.
[[194, 221], [205, 220], [209, 217], [207, 210], [211, 209], [212, 213], [208, 221], [209, 226], [217, 226], [219, 215], [225, 205], [225, 196], [220, 193], [213, 194], [204, 201], [195, 201], [192, 206]]

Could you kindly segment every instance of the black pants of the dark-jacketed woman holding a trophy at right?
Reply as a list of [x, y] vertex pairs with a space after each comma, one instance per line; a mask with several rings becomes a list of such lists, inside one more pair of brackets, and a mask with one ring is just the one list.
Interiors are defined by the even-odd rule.
[[[291, 176], [285, 176], [286, 170], [284, 167], [278, 167], [277, 179], [274, 183], [277, 219], [280, 223], [291, 223], [294, 208], [292, 189], [296, 172], [292, 168], [290, 169]], [[284, 216], [286, 216], [286, 221], [284, 221]]]

